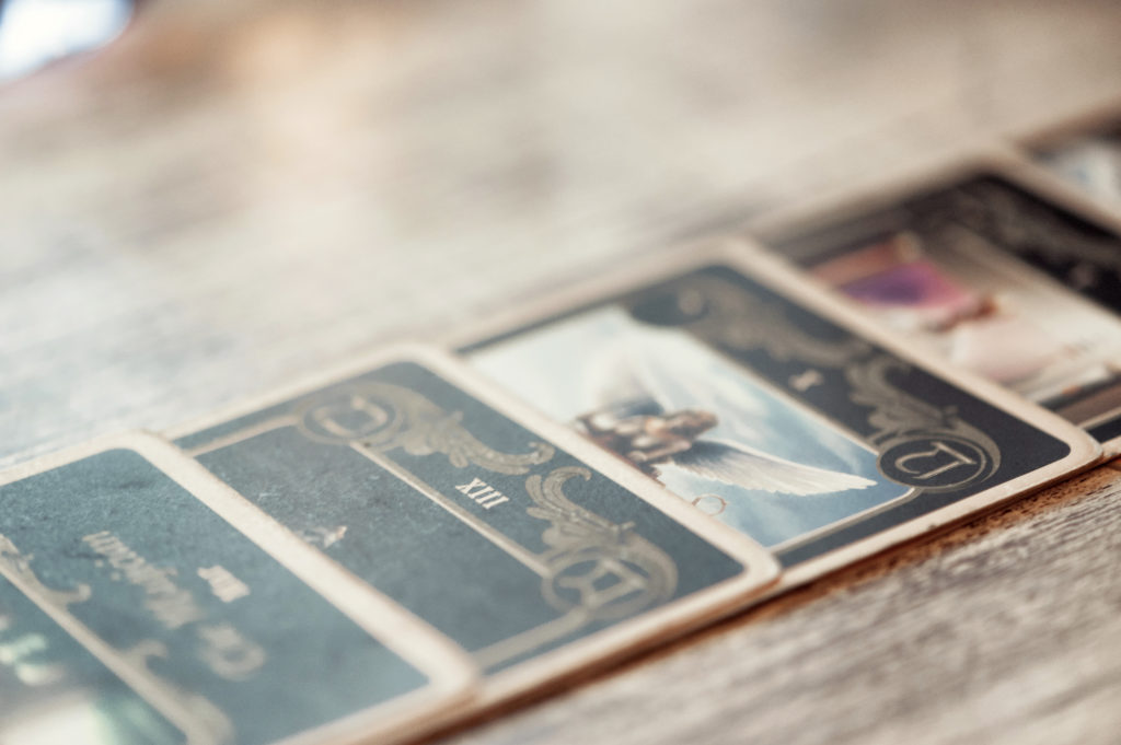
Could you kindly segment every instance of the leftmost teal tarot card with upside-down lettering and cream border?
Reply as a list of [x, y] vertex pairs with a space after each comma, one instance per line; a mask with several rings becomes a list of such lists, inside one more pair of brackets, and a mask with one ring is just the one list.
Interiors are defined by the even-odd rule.
[[3, 474], [0, 742], [388, 742], [470, 692], [458, 650], [240, 502], [142, 435]]

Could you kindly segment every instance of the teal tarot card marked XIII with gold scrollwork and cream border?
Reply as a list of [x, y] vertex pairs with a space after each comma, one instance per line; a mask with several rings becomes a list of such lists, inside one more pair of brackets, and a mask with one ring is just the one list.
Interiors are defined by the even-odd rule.
[[424, 347], [176, 443], [466, 650], [485, 702], [736, 607], [778, 571], [754, 541], [643, 478], [605, 476], [610, 458]]

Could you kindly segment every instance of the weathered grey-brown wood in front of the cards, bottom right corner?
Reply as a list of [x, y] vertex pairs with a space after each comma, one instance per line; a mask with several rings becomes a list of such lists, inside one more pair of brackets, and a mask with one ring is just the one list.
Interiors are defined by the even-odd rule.
[[1117, 743], [1119, 492], [1100, 468], [444, 742]]

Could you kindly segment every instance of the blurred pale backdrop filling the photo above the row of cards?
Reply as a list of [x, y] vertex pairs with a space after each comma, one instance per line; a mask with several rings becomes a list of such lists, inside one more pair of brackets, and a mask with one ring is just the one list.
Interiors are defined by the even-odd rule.
[[0, 465], [1121, 94], [1111, 0], [39, 1], [0, 20]]

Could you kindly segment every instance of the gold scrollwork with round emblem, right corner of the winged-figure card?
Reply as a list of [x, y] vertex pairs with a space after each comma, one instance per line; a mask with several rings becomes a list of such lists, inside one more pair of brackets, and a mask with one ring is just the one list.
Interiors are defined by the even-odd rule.
[[955, 407], [938, 408], [888, 381], [909, 366], [876, 355], [846, 370], [854, 403], [872, 407], [870, 441], [879, 450], [880, 472], [893, 482], [925, 492], [975, 485], [1000, 467], [997, 443], [962, 420]]

